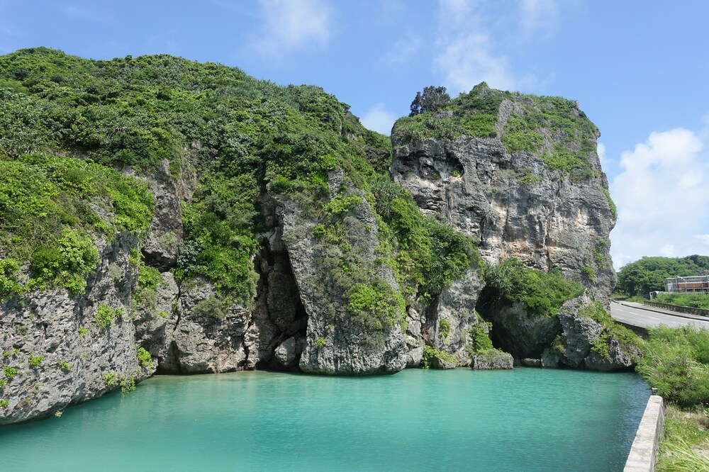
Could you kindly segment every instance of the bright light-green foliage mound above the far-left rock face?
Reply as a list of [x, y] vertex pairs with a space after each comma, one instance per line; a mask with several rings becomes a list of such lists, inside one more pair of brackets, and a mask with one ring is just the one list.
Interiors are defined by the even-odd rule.
[[[2, 106], [0, 104], [0, 109]], [[91, 203], [113, 215], [99, 217]], [[147, 187], [91, 161], [50, 154], [11, 159], [0, 151], [0, 295], [60, 286], [83, 291], [94, 270], [96, 235], [147, 229], [152, 196]], [[18, 279], [30, 262], [32, 276]]]

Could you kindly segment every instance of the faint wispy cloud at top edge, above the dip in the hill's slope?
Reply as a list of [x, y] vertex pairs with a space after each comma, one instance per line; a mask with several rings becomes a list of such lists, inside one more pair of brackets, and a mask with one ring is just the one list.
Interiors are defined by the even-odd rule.
[[323, 0], [259, 0], [263, 29], [254, 46], [262, 55], [321, 48], [332, 37], [332, 11]]

